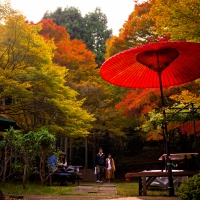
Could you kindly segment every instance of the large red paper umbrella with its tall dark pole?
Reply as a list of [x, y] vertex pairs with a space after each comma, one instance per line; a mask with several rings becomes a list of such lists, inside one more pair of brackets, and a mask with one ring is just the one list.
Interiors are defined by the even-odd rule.
[[[123, 51], [105, 61], [100, 74], [107, 82], [129, 88], [160, 88], [187, 83], [200, 77], [200, 44], [194, 42], [159, 42]], [[168, 155], [169, 195], [174, 195], [169, 135], [166, 114], [164, 130]]]

